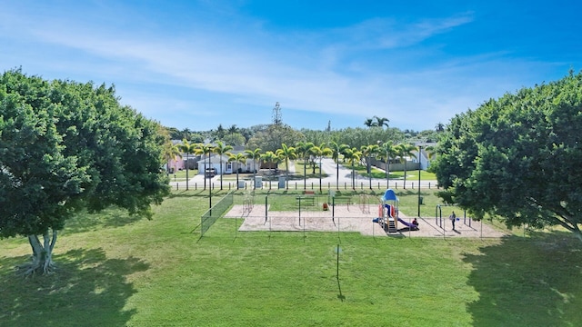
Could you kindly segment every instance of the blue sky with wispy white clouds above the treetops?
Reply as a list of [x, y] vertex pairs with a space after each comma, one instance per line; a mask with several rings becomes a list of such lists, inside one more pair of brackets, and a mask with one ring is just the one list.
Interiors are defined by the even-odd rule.
[[0, 10], [0, 68], [115, 84], [166, 126], [433, 129], [582, 69], [576, 1], [33, 1]]

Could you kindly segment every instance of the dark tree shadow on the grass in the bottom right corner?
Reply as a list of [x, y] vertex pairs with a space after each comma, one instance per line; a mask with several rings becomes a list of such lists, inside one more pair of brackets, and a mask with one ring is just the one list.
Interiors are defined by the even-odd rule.
[[473, 326], [582, 325], [582, 243], [571, 233], [507, 236], [466, 254], [479, 293], [467, 304]]

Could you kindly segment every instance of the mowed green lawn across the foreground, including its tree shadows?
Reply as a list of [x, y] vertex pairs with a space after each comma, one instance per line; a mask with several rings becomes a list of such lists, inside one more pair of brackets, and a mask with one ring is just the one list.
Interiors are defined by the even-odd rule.
[[79, 214], [50, 276], [15, 276], [29, 245], [0, 241], [0, 325], [582, 325], [582, 243], [570, 233], [304, 237], [219, 219], [200, 238], [207, 203], [206, 191], [175, 192], [151, 221]]

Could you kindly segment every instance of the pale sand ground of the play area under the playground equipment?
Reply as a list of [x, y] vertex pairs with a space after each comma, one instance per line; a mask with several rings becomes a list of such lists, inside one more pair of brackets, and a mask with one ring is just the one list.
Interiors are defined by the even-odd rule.
[[[333, 212], [332, 212], [333, 209]], [[423, 217], [418, 219], [417, 231], [409, 231], [402, 223], [398, 223], [397, 233], [387, 233], [380, 223], [373, 223], [377, 218], [378, 209], [374, 205], [336, 205], [324, 211], [314, 210], [294, 212], [270, 211], [264, 204], [255, 204], [252, 207], [234, 205], [226, 213], [225, 218], [245, 219], [240, 226], [240, 232], [273, 231], [273, 232], [358, 232], [370, 236], [402, 236], [402, 237], [501, 237], [501, 233], [487, 223], [474, 222], [470, 219], [460, 219], [456, 222], [453, 231], [447, 217], [435, 219]], [[404, 213], [398, 217], [409, 223]]]

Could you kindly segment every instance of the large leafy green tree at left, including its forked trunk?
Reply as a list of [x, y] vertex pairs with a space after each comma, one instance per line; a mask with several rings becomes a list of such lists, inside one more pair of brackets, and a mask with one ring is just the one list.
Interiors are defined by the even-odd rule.
[[162, 130], [113, 87], [0, 75], [0, 236], [28, 238], [21, 272], [53, 270], [57, 233], [79, 210], [151, 215], [169, 191]]

